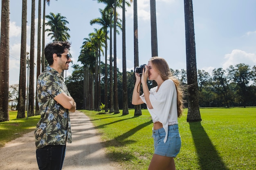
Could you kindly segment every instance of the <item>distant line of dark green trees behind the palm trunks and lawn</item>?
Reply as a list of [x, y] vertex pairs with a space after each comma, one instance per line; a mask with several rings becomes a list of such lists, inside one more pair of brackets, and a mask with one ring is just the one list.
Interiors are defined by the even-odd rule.
[[[71, 76], [67, 77], [66, 84], [70, 94], [75, 99], [77, 109], [85, 108], [85, 98], [83, 97], [83, 66], [74, 67]], [[186, 70], [173, 70], [173, 75], [180, 79], [184, 88], [189, 88], [186, 84]], [[101, 64], [101, 103], [110, 107], [109, 90], [108, 102], [104, 99], [104, 79], [105, 79], [105, 64]], [[109, 76], [109, 66], [108, 66]], [[118, 100], [119, 108], [123, 108], [122, 102], [122, 73], [117, 73], [118, 76]], [[110, 78], [108, 77], [108, 89]], [[131, 104], [132, 91], [135, 84], [134, 72], [127, 72], [127, 87], [128, 87], [128, 107], [134, 108]], [[149, 88], [153, 87], [153, 82], [148, 81]], [[204, 70], [198, 70], [198, 89], [199, 89], [199, 104], [200, 107], [233, 107], [233, 106], [256, 106], [256, 66], [250, 67], [247, 64], [237, 64], [229, 66], [226, 70], [217, 68], [208, 73]], [[186, 101], [187, 94], [185, 91], [184, 100]], [[185, 103], [187, 106], [187, 103]], [[141, 108], [146, 108], [143, 104]]]

